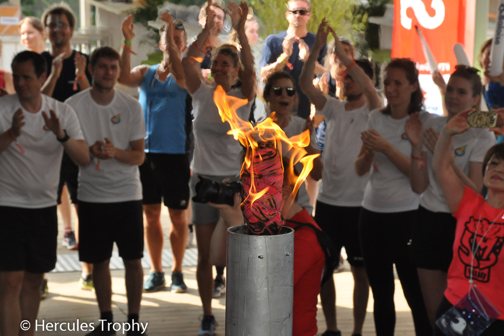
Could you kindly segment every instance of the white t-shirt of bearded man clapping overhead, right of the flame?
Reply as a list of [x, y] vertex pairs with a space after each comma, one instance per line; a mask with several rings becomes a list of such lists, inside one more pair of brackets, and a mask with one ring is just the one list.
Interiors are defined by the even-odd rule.
[[361, 132], [369, 117], [367, 104], [346, 111], [345, 101], [327, 97], [322, 110], [326, 122], [322, 183], [318, 200], [338, 206], [360, 206], [369, 175], [358, 176], [355, 160], [362, 146]]

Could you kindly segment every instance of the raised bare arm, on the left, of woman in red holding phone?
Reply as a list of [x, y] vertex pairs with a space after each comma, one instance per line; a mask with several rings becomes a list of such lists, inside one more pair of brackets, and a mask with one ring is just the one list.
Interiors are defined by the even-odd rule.
[[451, 142], [455, 134], [463, 133], [467, 127], [469, 111], [460, 112], [448, 121], [441, 132], [434, 149], [433, 169], [436, 179], [443, 190], [450, 212], [454, 214], [464, 197], [464, 183], [455, 174], [451, 164]]

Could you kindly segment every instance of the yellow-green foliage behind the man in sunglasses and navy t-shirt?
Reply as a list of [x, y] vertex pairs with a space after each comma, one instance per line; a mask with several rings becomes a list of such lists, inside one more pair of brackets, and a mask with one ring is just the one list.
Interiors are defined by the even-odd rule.
[[[250, 0], [254, 13], [261, 21], [263, 35], [273, 34], [287, 29], [285, 18], [286, 0]], [[312, 17], [308, 21], [308, 30], [316, 32], [325, 17], [338, 36], [346, 36], [353, 43], [359, 39], [367, 21], [366, 13], [359, 13], [356, 0], [314, 0]]]

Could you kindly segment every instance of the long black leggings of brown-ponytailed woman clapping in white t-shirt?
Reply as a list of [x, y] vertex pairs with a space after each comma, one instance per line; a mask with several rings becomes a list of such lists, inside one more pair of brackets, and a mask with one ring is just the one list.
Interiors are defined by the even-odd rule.
[[432, 336], [416, 267], [411, 261], [411, 227], [416, 211], [375, 213], [362, 208], [359, 236], [374, 298], [376, 336], [393, 336], [396, 323], [394, 269], [411, 308], [417, 336]]

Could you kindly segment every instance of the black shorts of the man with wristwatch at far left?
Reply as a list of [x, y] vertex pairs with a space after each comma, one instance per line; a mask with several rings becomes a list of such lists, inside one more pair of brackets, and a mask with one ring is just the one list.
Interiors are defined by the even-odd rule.
[[0, 271], [46, 273], [56, 266], [56, 205], [0, 206]]

